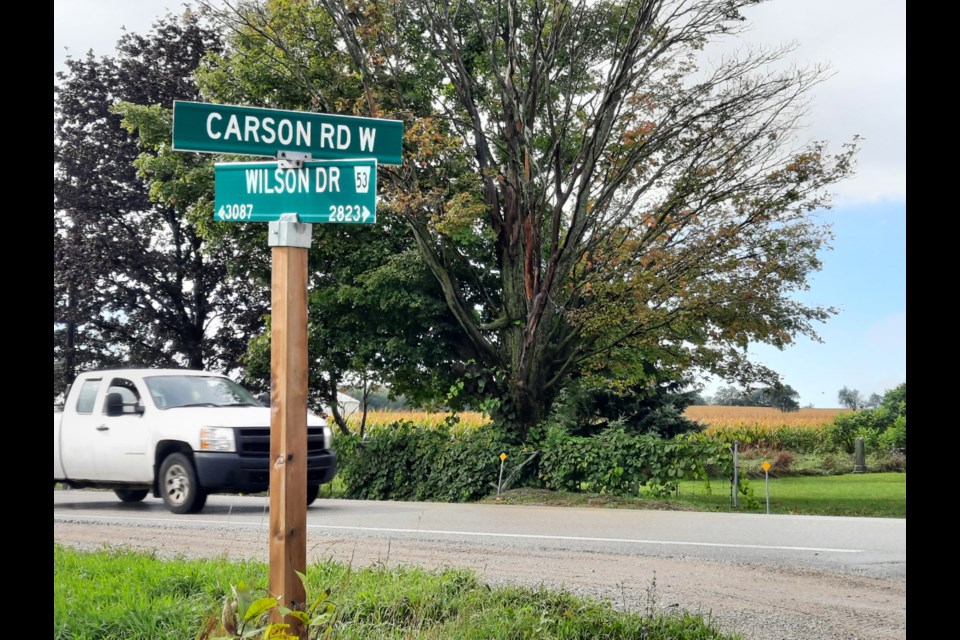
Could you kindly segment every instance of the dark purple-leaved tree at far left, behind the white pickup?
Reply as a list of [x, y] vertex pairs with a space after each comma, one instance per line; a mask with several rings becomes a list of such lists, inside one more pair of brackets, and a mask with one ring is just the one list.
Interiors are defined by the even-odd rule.
[[[198, 14], [128, 33], [115, 56], [69, 59], [54, 84], [54, 395], [81, 368], [237, 366], [267, 290], [201, 237], [196, 188], [152, 201], [121, 101], [196, 100], [192, 74], [221, 46]], [[210, 181], [212, 176], [201, 176]], [[209, 189], [207, 189], [209, 190]]]

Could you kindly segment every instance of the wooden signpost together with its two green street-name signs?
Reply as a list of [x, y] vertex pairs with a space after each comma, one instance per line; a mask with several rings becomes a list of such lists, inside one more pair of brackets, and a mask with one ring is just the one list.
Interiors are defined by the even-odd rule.
[[[377, 165], [402, 163], [403, 123], [177, 100], [173, 149], [274, 158], [215, 166], [214, 219], [269, 222], [270, 595], [304, 610], [307, 570], [307, 251], [312, 224], [376, 222]], [[296, 617], [277, 608], [271, 621]]]

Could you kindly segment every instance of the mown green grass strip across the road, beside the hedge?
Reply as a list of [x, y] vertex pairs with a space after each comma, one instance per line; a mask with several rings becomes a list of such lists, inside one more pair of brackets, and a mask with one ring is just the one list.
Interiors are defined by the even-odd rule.
[[[741, 496], [734, 509], [726, 479], [685, 481], [669, 499], [623, 498], [591, 493], [513, 489], [484, 502], [619, 509], [766, 513], [763, 478], [748, 481], [751, 498]], [[907, 517], [906, 473], [792, 476], [770, 479], [770, 513], [821, 516]]]

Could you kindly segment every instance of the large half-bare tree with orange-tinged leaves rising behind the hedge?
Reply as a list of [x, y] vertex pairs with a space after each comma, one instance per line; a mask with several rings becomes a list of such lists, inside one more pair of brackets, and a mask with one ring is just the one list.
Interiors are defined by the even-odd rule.
[[[792, 294], [820, 268], [830, 233], [811, 212], [852, 170], [855, 144], [831, 155], [798, 142], [825, 75], [775, 70], [786, 49], [700, 64], [750, 4], [208, 9], [234, 43], [269, 43], [275, 91], [405, 120], [404, 164], [380, 171], [381, 212], [436, 279], [468, 381], [523, 434], [574, 379], [630, 388], [709, 371], [773, 384], [747, 345], [816, 338], [833, 313]], [[318, 44], [329, 58], [311, 55]], [[352, 94], [317, 81], [329, 60]]]

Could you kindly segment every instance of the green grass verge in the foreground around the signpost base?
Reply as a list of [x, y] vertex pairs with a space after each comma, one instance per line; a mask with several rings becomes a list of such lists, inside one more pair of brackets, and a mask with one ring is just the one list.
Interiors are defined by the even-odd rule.
[[[161, 560], [130, 551], [81, 552], [54, 545], [54, 638], [189, 640], [223, 635], [231, 585], [266, 595], [264, 563]], [[307, 597], [330, 589], [330, 634], [343, 640], [492, 638], [735, 640], [702, 616], [622, 612], [563, 591], [490, 588], [464, 570], [307, 567]], [[211, 626], [208, 626], [210, 624]], [[201, 633], [202, 631], [205, 633]]]

